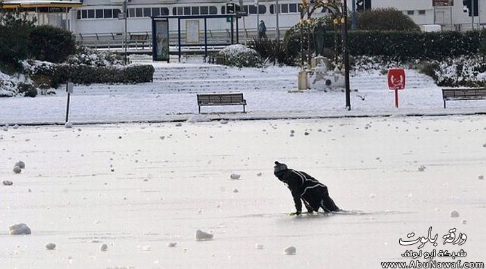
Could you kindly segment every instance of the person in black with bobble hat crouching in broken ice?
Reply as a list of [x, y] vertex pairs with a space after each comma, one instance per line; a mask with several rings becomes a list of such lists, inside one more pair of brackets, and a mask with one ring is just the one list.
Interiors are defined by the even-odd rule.
[[333, 199], [329, 197], [328, 187], [307, 173], [289, 169], [287, 165], [275, 162], [274, 175], [278, 180], [285, 183], [292, 192], [297, 211], [291, 215], [301, 214], [301, 200], [303, 200], [308, 213], [317, 212], [319, 207], [326, 212], [340, 211]]

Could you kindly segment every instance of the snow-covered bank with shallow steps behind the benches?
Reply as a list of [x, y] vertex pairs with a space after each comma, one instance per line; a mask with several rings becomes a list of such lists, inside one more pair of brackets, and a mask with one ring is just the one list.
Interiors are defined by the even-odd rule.
[[[171, 121], [196, 114], [196, 93], [242, 92], [242, 107], [202, 107], [212, 118], [276, 119], [283, 117], [362, 116], [389, 114], [449, 114], [485, 112], [486, 101], [450, 101], [444, 110], [442, 92], [431, 78], [407, 70], [407, 87], [394, 107], [394, 92], [387, 89], [380, 71], [360, 71], [351, 78], [351, 112], [344, 109], [341, 91], [296, 89], [298, 69], [222, 67], [210, 64], [153, 64], [153, 83], [141, 85], [76, 86], [71, 98], [70, 120], [81, 122]], [[36, 98], [0, 98], [0, 123], [62, 123], [66, 94]], [[217, 112], [233, 112], [217, 114]]]

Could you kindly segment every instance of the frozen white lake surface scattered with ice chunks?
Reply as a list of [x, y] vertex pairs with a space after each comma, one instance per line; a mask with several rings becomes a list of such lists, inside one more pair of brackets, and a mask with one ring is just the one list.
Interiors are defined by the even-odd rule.
[[[249, 103], [257, 92], [245, 92]], [[31, 100], [48, 105], [56, 98]], [[96, 100], [79, 95], [74, 102], [90, 98]], [[439, 98], [432, 104], [440, 106]], [[77, 119], [90, 119], [87, 107]], [[60, 121], [42, 115], [36, 119]], [[25, 168], [14, 174], [19, 160]], [[275, 160], [326, 183], [347, 211], [287, 216], [293, 202], [272, 175]], [[410, 261], [402, 254], [418, 252], [419, 244], [399, 239], [428, 237], [429, 227], [438, 245], [429, 241], [422, 250], [462, 248], [463, 262], [484, 262], [485, 167], [485, 116], [9, 128], [0, 134], [0, 180], [13, 183], [0, 187], [0, 268], [380, 268]], [[8, 226], [18, 223], [32, 234], [9, 235]], [[464, 245], [442, 243], [451, 228], [458, 238], [467, 234]], [[214, 238], [196, 241], [198, 229]], [[284, 255], [291, 245], [296, 254]]]

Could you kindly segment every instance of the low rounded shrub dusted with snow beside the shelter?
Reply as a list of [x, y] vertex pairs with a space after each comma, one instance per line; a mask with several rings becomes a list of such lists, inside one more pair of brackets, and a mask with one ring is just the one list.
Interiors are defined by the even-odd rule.
[[223, 64], [232, 67], [262, 67], [262, 57], [254, 49], [249, 49], [242, 44], [226, 46], [219, 51], [223, 56]]

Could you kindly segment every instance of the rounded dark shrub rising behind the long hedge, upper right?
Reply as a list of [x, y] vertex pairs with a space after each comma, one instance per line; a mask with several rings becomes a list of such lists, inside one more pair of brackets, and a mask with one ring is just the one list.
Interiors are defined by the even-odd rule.
[[358, 12], [356, 17], [360, 30], [420, 31], [414, 21], [396, 8], [376, 8]]

